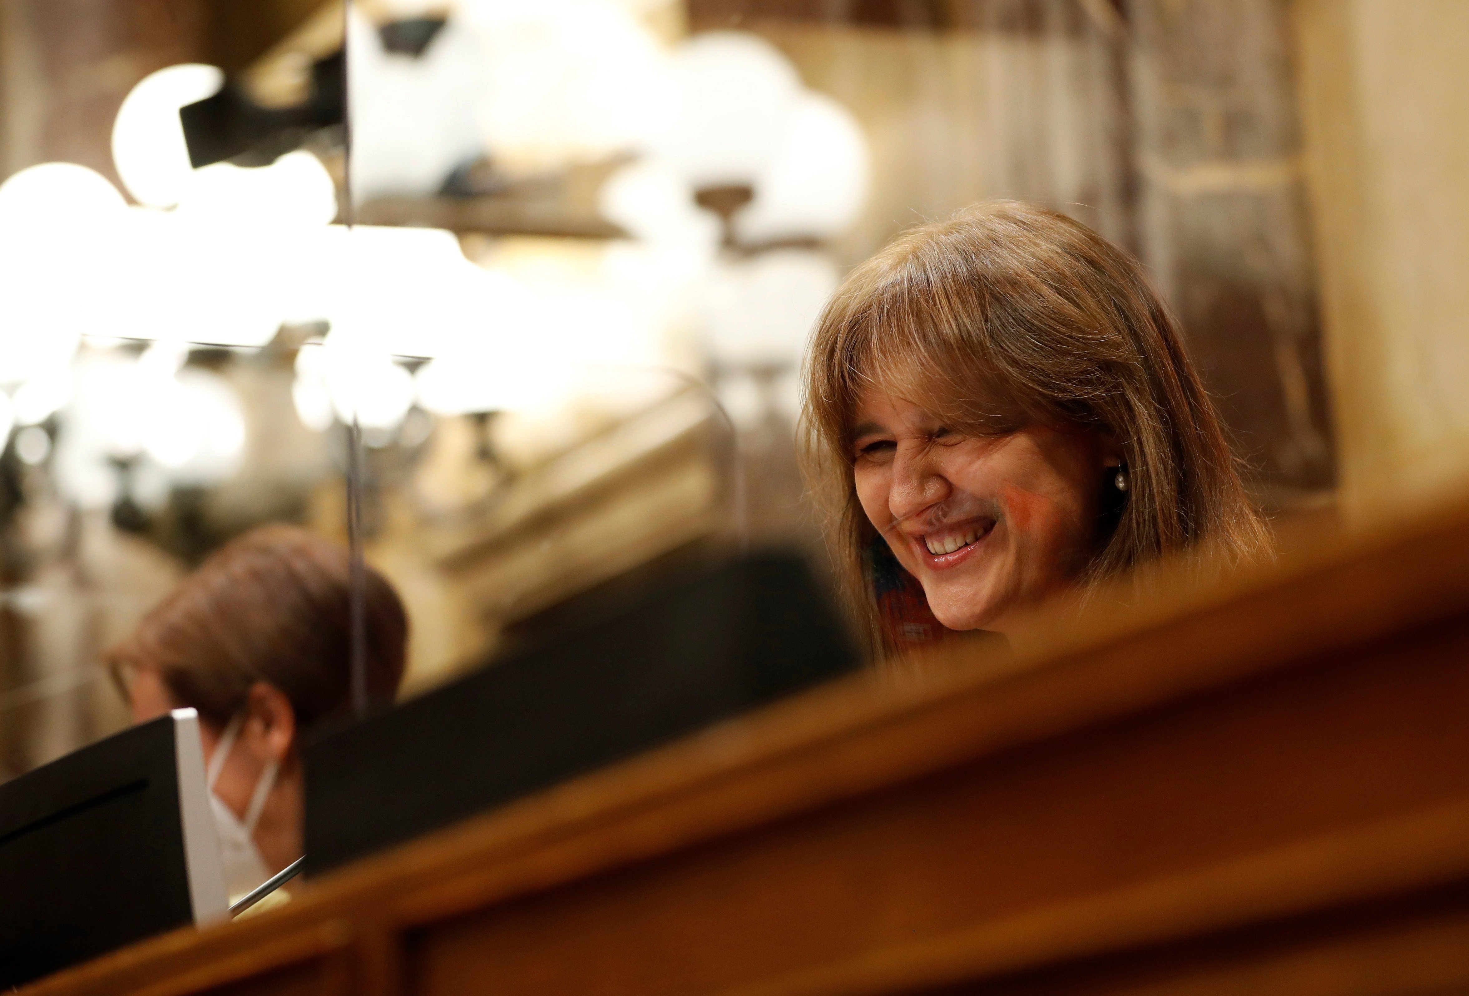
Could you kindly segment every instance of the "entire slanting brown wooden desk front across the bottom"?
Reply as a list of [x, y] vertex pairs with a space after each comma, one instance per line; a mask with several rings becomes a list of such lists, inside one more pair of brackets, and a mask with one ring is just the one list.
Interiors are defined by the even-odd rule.
[[1469, 992], [1469, 510], [1091, 615], [28, 992]]

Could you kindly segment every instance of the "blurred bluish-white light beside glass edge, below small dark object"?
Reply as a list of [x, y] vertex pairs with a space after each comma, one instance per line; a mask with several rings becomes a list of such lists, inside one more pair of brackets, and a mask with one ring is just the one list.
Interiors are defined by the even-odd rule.
[[451, 19], [422, 56], [391, 53], [373, 25], [348, 12], [351, 189], [358, 201], [436, 194], [482, 151], [474, 123], [485, 57]]

